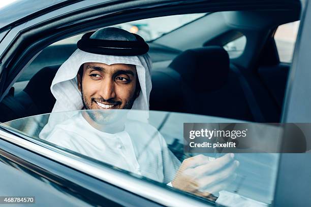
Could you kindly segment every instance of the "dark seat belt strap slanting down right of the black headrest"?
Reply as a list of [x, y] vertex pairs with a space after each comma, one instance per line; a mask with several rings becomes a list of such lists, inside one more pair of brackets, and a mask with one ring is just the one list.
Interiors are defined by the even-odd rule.
[[248, 84], [248, 82], [246, 81], [245, 77], [242, 75], [240, 70], [235, 65], [230, 64], [230, 68], [239, 78], [239, 81], [242, 86], [242, 90], [244, 92], [244, 96], [246, 98], [248, 106], [251, 109], [251, 113], [254, 117], [255, 122], [261, 122], [261, 123], [265, 122], [265, 118], [259, 108], [259, 105], [256, 101], [253, 91], [250, 85]]

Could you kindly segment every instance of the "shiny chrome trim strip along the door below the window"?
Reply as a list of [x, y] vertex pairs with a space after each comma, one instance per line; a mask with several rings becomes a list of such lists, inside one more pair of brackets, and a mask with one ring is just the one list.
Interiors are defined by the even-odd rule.
[[[87, 161], [81, 157], [74, 156], [71, 153], [58, 153], [47, 149], [38, 144], [15, 136], [14, 134], [3, 131], [0, 128], [0, 139], [14, 143], [27, 150], [43, 155], [49, 159], [70, 166], [90, 176], [94, 176], [102, 181], [115, 185], [119, 188], [140, 195], [154, 202], [167, 206], [209, 206], [208, 203], [188, 198], [177, 192], [170, 191], [163, 187], [153, 185], [147, 181], [124, 174], [121, 171], [105, 167], [96, 162]], [[210, 205], [211, 206], [211, 205]]]

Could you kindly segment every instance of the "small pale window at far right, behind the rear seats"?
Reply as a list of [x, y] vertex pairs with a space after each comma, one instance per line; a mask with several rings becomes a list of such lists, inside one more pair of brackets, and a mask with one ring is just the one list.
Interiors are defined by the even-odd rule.
[[279, 25], [274, 34], [280, 62], [291, 63], [300, 21]]

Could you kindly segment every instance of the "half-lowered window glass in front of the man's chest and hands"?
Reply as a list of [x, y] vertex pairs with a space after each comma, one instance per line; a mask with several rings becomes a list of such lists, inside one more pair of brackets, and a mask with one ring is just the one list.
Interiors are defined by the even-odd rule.
[[[188, 159], [187, 169], [194, 169], [198, 164], [198, 160], [191, 161], [194, 157], [199, 157], [206, 164], [217, 162], [215, 158], [231, 156], [218, 150], [206, 153], [184, 151], [184, 123], [209, 123], [213, 130], [216, 130], [220, 129], [218, 123], [238, 122], [237, 120], [172, 112], [109, 111], [52, 113], [2, 123], [1, 126], [26, 135], [29, 141], [40, 141], [39, 144], [42, 146], [53, 146], [57, 150], [78, 155], [88, 162], [101, 163], [103, 166], [148, 182], [155, 181], [164, 188], [182, 190], [209, 201], [227, 198], [226, 202], [221, 200], [219, 202], [228, 204], [235, 202], [234, 199], [238, 197], [247, 200], [248, 203], [260, 205], [272, 203], [278, 154], [235, 153], [234, 159], [228, 158], [229, 164], [224, 165], [230, 169], [230, 173], [224, 178], [221, 177], [221, 180], [217, 181], [217, 176], [215, 177], [217, 174], [210, 172], [212, 176], [206, 178], [213, 180], [208, 181], [206, 186], [197, 188], [198, 186], [182, 185], [187, 183], [184, 179], [199, 176], [193, 174], [191, 170], [181, 174], [180, 169], [183, 166], [181, 163], [184, 160]], [[93, 116], [95, 114], [97, 116]], [[93, 122], [98, 119], [101, 119], [100, 125]], [[262, 131], [260, 136], [261, 139], [264, 136]], [[233, 160], [239, 161], [236, 169], [232, 168], [231, 164], [235, 162]], [[208, 175], [208, 169], [204, 170], [207, 170]], [[187, 176], [180, 178], [180, 175]], [[178, 185], [179, 178], [182, 182]], [[217, 182], [224, 182], [221, 189], [214, 188]]]

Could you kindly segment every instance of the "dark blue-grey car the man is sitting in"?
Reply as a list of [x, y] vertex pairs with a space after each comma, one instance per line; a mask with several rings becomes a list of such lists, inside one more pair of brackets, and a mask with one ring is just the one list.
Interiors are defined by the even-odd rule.
[[[183, 149], [184, 123], [274, 129], [270, 123], [310, 122], [308, 1], [33, 0], [16, 1], [0, 13], [1, 196], [33, 198], [38, 206], [239, 206], [229, 197], [220, 202], [219, 194], [184, 192], [40, 138], [50, 117], [77, 113], [51, 113], [58, 68], [84, 33], [107, 26], [146, 40], [153, 62], [148, 124], [180, 162], [196, 155]], [[290, 43], [277, 40], [278, 29], [297, 21], [297, 40], [296, 34]], [[132, 113], [133, 123], [147, 127], [143, 112]], [[307, 137], [262, 142], [294, 153], [236, 153], [240, 166], [227, 195], [249, 205], [310, 205]]]

